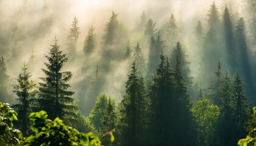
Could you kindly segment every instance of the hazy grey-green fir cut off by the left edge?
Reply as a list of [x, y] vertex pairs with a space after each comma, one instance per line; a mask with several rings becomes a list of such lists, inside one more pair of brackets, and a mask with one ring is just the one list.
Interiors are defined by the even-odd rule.
[[1, 58], [0, 60], [0, 102], [5, 103], [8, 102], [10, 103], [10, 96], [8, 93], [7, 89], [7, 84], [8, 84], [8, 79], [9, 75], [7, 75], [7, 68], [5, 64], [5, 59], [4, 57]]

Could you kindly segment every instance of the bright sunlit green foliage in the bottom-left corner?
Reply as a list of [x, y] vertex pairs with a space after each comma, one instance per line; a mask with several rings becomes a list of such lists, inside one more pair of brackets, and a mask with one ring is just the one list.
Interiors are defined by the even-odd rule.
[[20, 144], [23, 137], [19, 130], [13, 127], [13, 121], [17, 119], [17, 113], [8, 106], [0, 102], [0, 145], [14, 146]]

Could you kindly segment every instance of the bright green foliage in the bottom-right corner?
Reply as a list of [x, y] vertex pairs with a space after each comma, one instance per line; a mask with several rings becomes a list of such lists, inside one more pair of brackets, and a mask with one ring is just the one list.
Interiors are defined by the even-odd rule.
[[255, 146], [256, 145], [256, 107], [254, 107], [254, 114], [252, 115], [252, 120], [250, 121], [249, 134], [245, 139], [240, 139], [238, 141], [239, 146]]

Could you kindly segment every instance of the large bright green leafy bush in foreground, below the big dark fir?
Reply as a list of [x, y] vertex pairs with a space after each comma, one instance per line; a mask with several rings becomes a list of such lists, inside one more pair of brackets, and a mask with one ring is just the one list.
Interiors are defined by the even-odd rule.
[[101, 145], [99, 138], [93, 133], [80, 133], [66, 126], [59, 117], [54, 120], [46, 119], [47, 117], [45, 111], [30, 114], [35, 136], [25, 138], [20, 145]]

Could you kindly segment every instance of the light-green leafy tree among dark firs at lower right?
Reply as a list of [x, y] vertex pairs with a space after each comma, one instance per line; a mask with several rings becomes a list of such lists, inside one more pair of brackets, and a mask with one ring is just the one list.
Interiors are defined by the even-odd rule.
[[210, 105], [210, 100], [201, 96], [192, 108], [197, 123], [197, 145], [213, 145], [215, 143], [216, 125], [220, 110]]

